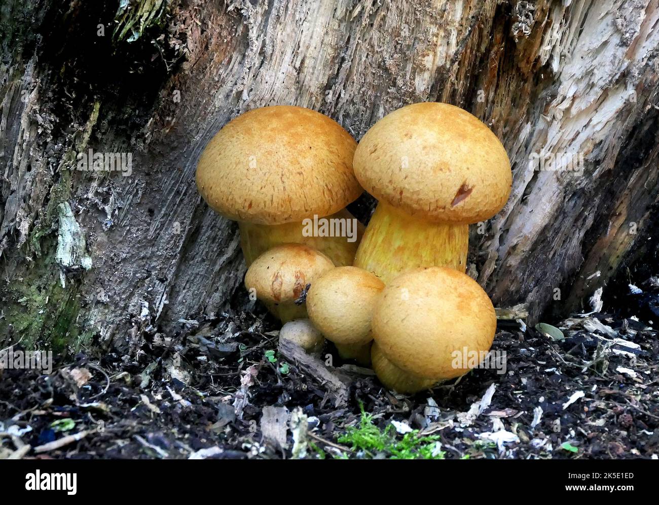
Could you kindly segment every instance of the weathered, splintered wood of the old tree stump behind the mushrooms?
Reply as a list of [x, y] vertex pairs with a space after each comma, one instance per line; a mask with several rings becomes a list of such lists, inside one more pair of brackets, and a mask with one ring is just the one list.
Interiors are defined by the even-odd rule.
[[[513, 193], [473, 226], [470, 271], [495, 304], [529, 302], [532, 320], [615, 275], [659, 199], [658, 0], [1, 1], [12, 340], [125, 343], [225, 310], [244, 274], [237, 226], [200, 201], [194, 169], [224, 123], [259, 106], [320, 110], [357, 139], [422, 100], [488, 123]], [[132, 173], [76, 170], [88, 149], [132, 153]], [[534, 153], [581, 153], [583, 174], [532, 170]], [[57, 254], [82, 239], [89, 270]]]

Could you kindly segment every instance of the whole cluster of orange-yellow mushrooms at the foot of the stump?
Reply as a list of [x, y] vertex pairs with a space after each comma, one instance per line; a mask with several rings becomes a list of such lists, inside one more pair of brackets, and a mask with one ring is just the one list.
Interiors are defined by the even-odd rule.
[[[309, 353], [327, 339], [400, 393], [468, 372], [456, 352], [490, 349], [494, 307], [465, 275], [469, 224], [503, 208], [511, 168], [465, 110], [405, 106], [357, 144], [318, 112], [255, 109], [210, 141], [196, 182], [239, 222], [245, 286], [285, 323], [280, 339]], [[364, 189], [378, 207], [357, 240], [305, 232], [314, 217], [354, 219], [345, 207]]]

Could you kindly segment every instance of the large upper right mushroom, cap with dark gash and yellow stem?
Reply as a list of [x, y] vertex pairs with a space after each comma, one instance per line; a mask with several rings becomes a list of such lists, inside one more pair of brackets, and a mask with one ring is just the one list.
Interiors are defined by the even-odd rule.
[[489, 219], [511, 188], [508, 156], [480, 120], [421, 103], [380, 119], [355, 151], [355, 175], [379, 200], [355, 266], [388, 283], [416, 267], [467, 267], [469, 224]]

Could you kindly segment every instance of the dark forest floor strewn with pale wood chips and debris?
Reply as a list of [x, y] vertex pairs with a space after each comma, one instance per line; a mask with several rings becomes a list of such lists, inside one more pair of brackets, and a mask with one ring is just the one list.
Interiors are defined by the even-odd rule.
[[329, 345], [321, 359], [277, 347], [264, 312], [200, 318], [146, 335], [129, 359], [3, 370], [0, 459], [657, 459], [652, 322], [596, 313], [556, 326], [563, 339], [501, 321], [505, 374], [403, 396]]

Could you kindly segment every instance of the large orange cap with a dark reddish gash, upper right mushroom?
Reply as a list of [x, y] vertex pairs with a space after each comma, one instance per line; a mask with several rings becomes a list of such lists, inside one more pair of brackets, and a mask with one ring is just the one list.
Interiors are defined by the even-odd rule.
[[510, 194], [510, 161], [499, 139], [461, 108], [405, 106], [359, 142], [355, 175], [374, 197], [430, 222], [490, 219]]

